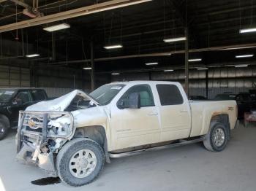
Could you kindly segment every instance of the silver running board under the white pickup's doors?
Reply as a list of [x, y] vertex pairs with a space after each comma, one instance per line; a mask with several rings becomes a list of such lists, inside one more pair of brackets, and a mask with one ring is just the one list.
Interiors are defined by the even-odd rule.
[[151, 147], [148, 149], [140, 149], [140, 150], [135, 150], [135, 151], [130, 151], [130, 152], [122, 152], [122, 153], [110, 153], [109, 152], [109, 156], [111, 158], [128, 157], [128, 156], [132, 156], [132, 155], [138, 155], [142, 152], [156, 151], [156, 150], [162, 150], [162, 149], [169, 149], [169, 148], [173, 148], [173, 147], [179, 147], [179, 146], [183, 146], [183, 145], [187, 145], [187, 144], [194, 144], [194, 143], [203, 141], [204, 139], [205, 139], [204, 137], [201, 137], [199, 139], [194, 139], [194, 140], [189, 140], [189, 141], [180, 140], [181, 142], [176, 143], [176, 144], [167, 144], [164, 146]]

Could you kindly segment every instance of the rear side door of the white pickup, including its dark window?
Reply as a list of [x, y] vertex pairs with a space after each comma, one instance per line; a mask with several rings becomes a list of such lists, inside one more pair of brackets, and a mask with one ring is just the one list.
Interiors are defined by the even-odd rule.
[[[180, 87], [182, 88], [182, 87]], [[183, 139], [190, 132], [190, 107], [176, 85], [157, 84], [161, 119], [161, 141]]]

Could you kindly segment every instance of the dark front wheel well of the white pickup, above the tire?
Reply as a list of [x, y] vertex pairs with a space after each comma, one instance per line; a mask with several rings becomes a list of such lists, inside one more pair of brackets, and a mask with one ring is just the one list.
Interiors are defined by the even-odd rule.
[[105, 128], [102, 126], [87, 126], [83, 128], [77, 128], [75, 130], [74, 138], [88, 138], [97, 142], [105, 152], [106, 162], [110, 163], [110, 157], [108, 154], [108, 142], [105, 133]]

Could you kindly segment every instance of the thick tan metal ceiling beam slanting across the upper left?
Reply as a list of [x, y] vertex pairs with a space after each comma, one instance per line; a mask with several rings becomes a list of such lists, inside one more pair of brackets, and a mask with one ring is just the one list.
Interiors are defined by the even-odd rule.
[[59, 12], [53, 15], [47, 15], [44, 17], [37, 17], [30, 20], [24, 20], [18, 23], [12, 23], [6, 26], [0, 26], [0, 33], [5, 31], [12, 31], [20, 28], [26, 28], [31, 26], [38, 26], [45, 23], [52, 23], [59, 20], [65, 20], [73, 17], [80, 17], [83, 15], [89, 15], [96, 12], [102, 12], [110, 9], [117, 9], [120, 7], [126, 7], [133, 4], [140, 4], [151, 0], [112, 0], [100, 4], [94, 4], [78, 9], [72, 9], [65, 12]]

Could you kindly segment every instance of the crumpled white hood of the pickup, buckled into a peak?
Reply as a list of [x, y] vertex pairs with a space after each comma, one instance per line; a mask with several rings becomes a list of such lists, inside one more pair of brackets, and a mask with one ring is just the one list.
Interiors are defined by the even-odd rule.
[[91, 98], [90, 95], [84, 93], [80, 90], [73, 90], [70, 93], [67, 93], [66, 95], [63, 95], [59, 98], [50, 100], [50, 101], [40, 101], [37, 104], [28, 106], [26, 108], [26, 111], [39, 111], [39, 112], [49, 112], [49, 111], [59, 111], [62, 112], [64, 109], [69, 106], [73, 98], [75, 98], [75, 95], [81, 95], [85, 98], [89, 98], [94, 104], [99, 104], [97, 101], [95, 101], [93, 98]]

